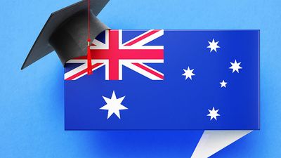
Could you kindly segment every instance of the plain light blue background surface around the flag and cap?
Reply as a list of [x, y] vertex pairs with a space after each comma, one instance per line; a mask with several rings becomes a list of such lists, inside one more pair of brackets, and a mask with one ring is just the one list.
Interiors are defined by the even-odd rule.
[[[51, 12], [74, 2], [1, 1], [0, 157], [190, 157], [200, 131], [64, 131], [58, 57], [20, 67]], [[115, 0], [99, 18], [113, 29], [261, 29], [261, 131], [214, 157], [280, 157], [280, 8], [281, 1]]]

